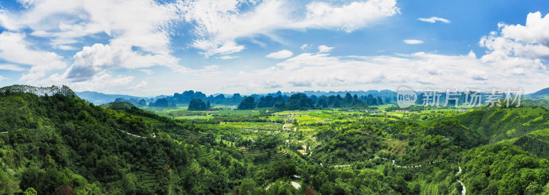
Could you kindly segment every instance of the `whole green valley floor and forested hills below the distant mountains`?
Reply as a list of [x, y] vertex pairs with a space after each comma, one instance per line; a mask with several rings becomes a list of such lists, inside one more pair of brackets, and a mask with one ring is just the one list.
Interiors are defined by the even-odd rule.
[[0, 194], [549, 192], [544, 107], [174, 120], [16, 91], [0, 92]]

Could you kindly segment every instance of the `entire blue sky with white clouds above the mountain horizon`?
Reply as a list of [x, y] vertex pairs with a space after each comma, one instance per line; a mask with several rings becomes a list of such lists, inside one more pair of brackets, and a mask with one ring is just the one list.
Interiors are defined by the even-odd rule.
[[549, 87], [546, 1], [0, 1], [0, 86]]

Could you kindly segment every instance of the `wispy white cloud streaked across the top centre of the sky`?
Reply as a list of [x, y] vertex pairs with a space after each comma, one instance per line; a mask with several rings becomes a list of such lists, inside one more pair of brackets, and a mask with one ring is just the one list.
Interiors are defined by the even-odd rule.
[[399, 14], [395, 0], [370, 0], [334, 5], [312, 2], [305, 5], [305, 12], [292, 12], [297, 1], [270, 0], [255, 3], [242, 11], [247, 1], [197, 0], [180, 3], [183, 18], [196, 25], [198, 38], [191, 47], [201, 49], [203, 55], [230, 54], [246, 47], [237, 44], [237, 38], [267, 36], [277, 39], [273, 31], [279, 29], [335, 29], [353, 31], [371, 25], [387, 16]]

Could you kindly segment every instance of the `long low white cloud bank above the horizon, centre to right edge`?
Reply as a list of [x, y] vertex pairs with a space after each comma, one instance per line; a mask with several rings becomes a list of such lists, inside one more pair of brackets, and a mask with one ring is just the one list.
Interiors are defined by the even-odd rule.
[[[548, 73], [528, 68], [506, 70], [484, 62], [470, 53], [439, 55], [410, 53], [397, 56], [332, 56], [329, 53], [300, 53], [260, 70], [218, 75], [231, 85], [224, 91], [271, 92], [275, 86], [290, 91], [303, 90], [394, 90], [402, 83], [414, 88], [522, 87], [537, 90], [547, 83]], [[349, 71], [352, 70], [352, 71]], [[510, 71], [512, 70], [512, 71]], [[528, 77], [524, 77], [528, 75]], [[270, 81], [270, 82], [266, 82]], [[382, 88], [379, 88], [379, 87]]]

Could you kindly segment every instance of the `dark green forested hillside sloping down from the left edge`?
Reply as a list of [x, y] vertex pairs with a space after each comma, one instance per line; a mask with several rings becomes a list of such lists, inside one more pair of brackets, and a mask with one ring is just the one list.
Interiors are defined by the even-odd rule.
[[[8, 132], [0, 135], [5, 193], [33, 187], [38, 194], [67, 188], [75, 194], [209, 194], [231, 190], [231, 182], [242, 177], [234, 167], [200, 161], [201, 155], [218, 153], [228, 164], [240, 164], [231, 157], [234, 151], [200, 139], [171, 138], [159, 129], [166, 124], [148, 122], [154, 119], [75, 96], [0, 95], [0, 127]], [[211, 181], [226, 185], [196, 186]]]

